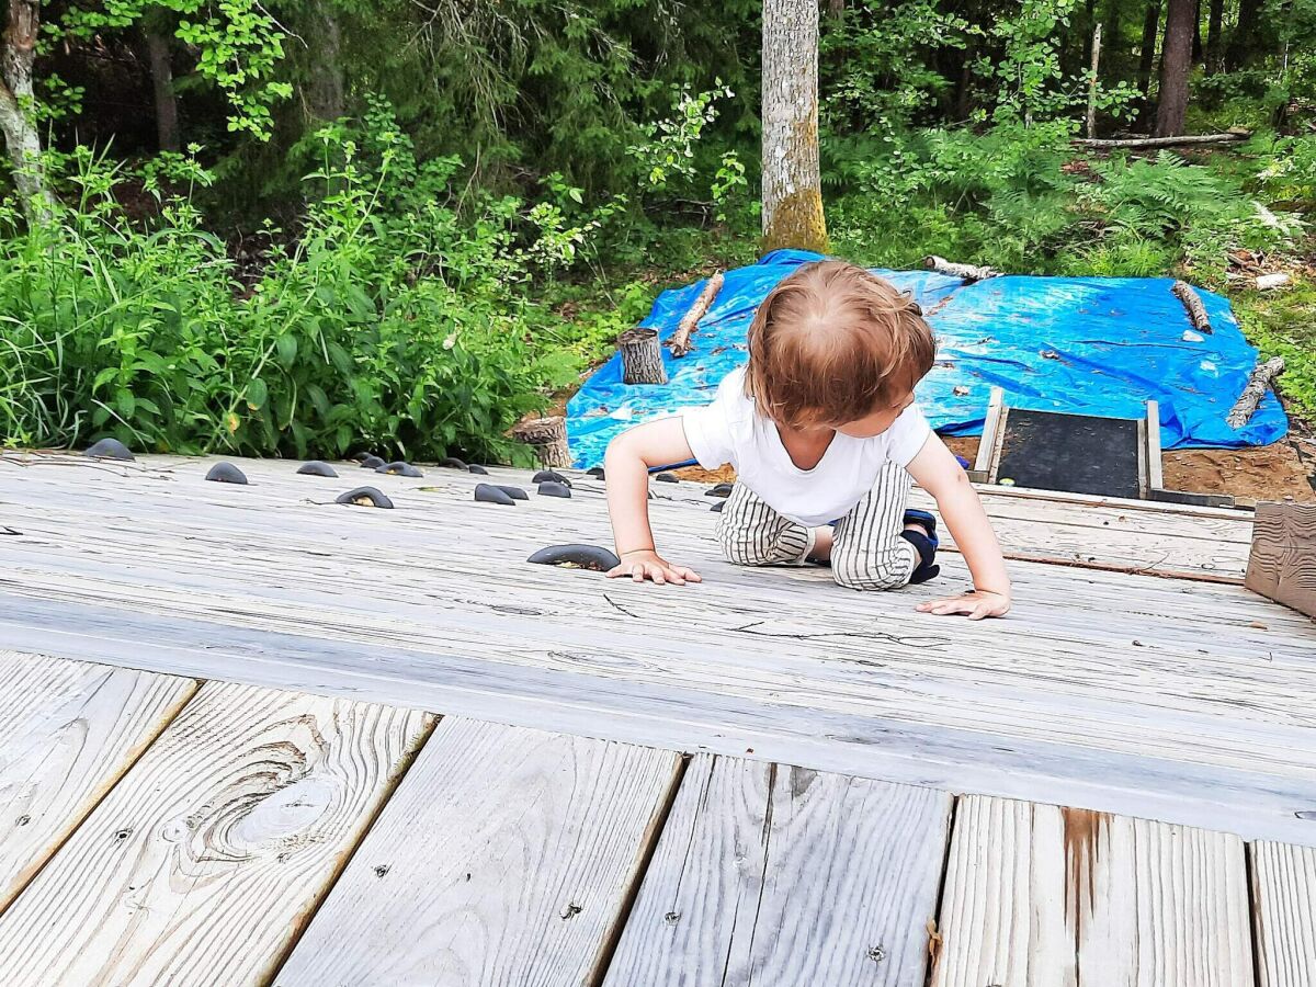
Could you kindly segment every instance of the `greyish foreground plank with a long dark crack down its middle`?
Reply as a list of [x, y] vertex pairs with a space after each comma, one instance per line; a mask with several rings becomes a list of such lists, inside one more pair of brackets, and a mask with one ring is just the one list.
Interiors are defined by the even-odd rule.
[[923, 987], [950, 796], [699, 755], [607, 984]]

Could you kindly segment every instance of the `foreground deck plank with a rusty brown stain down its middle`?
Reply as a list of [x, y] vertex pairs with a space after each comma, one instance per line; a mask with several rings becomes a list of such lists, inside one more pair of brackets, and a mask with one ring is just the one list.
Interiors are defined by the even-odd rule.
[[1233, 836], [1054, 805], [959, 800], [933, 987], [1250, 987]]

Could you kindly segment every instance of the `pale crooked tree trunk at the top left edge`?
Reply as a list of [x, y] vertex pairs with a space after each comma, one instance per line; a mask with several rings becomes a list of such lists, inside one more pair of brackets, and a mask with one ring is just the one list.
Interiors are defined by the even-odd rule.
[[50, 217], [53, 199], [46, 187], [41, 159], [41, 134], [25, 109], [32, 104], [32, 62], [41, 30], [38, 0], [9, 0], [9, 20], [0, 49], [0, 130], [13, 162], [13, 183], [22, 200], [22, 212], [32, 220]]

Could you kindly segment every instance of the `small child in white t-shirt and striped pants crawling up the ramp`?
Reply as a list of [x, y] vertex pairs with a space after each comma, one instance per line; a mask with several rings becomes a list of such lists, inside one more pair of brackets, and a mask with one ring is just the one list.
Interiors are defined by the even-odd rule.
[[742, 566], [829, 563], [853, 590], [940, 572], [937, 522], [905, 508], [909, 478], [937, 500], [974, 590], [919, 604], [973, 620], [1009, 609], [1009, 576], [978, 495], [913, 399], [936, 343], [919, 307], [862, 267], [800, 267], [759, 305], [749, 365], [705, 408], [633, 428], [605, 461], [621, 565], [609, 576], [697, 583], [662, 558], [649, 526], [649, 467], [695, 458], [737, 482], [717, 537]]

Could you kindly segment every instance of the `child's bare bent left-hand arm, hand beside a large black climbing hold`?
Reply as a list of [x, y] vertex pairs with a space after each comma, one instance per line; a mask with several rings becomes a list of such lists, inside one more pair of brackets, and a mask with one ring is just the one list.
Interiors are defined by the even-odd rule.
[[684, 566], [674, 566], [654, 547], [649, 526], [649, 467], [679, 463], [692, 457], [680, 418], [662, 418], [622, 432], [608, 443], [604, 471], [608, 475], [608, 513], [612, 516], [612, 538], [621, 565], [609, 576], [630, 576], [637, 583], [700, 582]]

